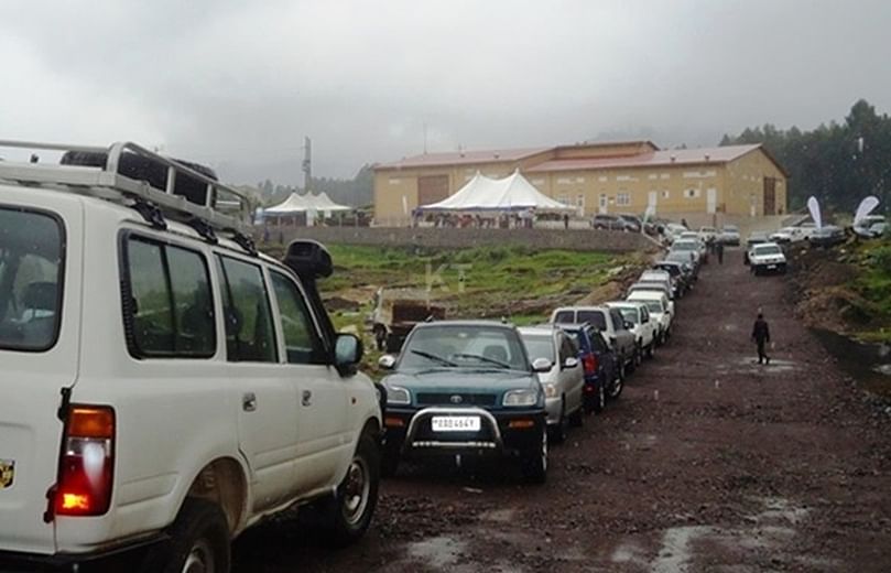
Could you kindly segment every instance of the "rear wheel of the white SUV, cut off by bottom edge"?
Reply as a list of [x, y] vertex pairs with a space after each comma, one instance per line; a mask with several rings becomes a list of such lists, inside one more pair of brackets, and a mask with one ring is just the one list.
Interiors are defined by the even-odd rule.
[[213, 501], [186, 498], [167, 530], [170, 543], [145, 555], [144, 573], [228, 573], [231, 566], [229, 525]]

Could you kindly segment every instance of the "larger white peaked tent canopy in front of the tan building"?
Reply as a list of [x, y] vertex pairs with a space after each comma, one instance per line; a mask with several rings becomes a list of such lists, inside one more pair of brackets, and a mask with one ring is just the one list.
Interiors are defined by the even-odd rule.
[[552, 199], [526, 181], [520, 171], [493, 180], [477, 172], [474, 179], [457, 193], [438, 203], [421, 205], [421, 210], [477, 210], [511, 212], [534, 209], [536, 212], [574, 212], [575, 207]]

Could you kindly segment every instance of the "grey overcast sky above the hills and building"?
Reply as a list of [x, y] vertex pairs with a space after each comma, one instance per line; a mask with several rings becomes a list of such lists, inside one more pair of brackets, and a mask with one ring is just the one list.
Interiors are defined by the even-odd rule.
[[891, 2], [2, 0], [0, 138], [129, 139], [232, 183], [430, 151], [891, 111]]

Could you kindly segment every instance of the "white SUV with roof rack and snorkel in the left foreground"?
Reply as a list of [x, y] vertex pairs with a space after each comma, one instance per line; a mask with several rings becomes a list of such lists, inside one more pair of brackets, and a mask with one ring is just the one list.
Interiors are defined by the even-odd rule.
[[258, 255], [206, 173], [133, 144], [78, 152], [0, 162], [0, 570], [140, 547], [146, 571], [225, 572], [235, 537], [295, 505], [358, 539], [380, 397], [322, 307], [327, 251]]

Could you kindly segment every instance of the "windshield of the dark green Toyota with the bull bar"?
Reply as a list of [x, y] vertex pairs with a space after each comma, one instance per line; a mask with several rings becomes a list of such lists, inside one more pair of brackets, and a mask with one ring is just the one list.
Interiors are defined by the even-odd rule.
[[402, 349], [400, 368], [431, 367], [529, 370], [529, 360], [511, 328], [442, 324], [415, 329]]

